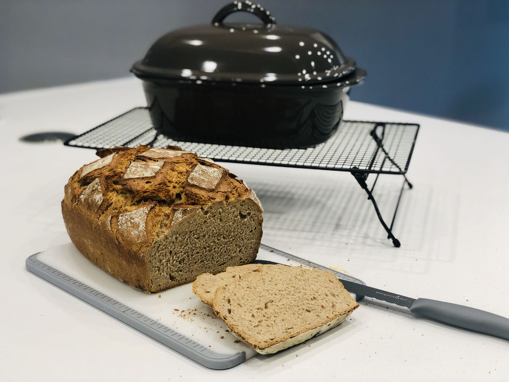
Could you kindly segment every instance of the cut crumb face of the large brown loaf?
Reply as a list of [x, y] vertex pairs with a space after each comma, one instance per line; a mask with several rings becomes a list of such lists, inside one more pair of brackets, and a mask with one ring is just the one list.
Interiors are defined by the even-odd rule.
[[254, 219], [258, 213], [251, 200], [196, 209], [148, 249], [152, 287], [157, 290], [187, 284], [203, 272], [216, 274], [229, 264], [253, 261], [261, 240], [261, 222]]

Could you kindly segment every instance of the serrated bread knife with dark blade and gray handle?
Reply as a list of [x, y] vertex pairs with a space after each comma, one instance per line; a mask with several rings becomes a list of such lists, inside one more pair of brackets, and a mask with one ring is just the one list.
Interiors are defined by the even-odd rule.
[[[256, 260], [254, 262], [278, 264], [267, 260]], [[429, 298], [411, 298], [341, 278], [338, 279], [343, 283], [346, 290], [357, 295], [357, 301], [362, 296], [372, 297], [408, 308], [410, 313], [416, 316], [509, 340], [509, 319], [497, 314]], [[366, 300], [366, 302], [369, 303], [369, 300]]]

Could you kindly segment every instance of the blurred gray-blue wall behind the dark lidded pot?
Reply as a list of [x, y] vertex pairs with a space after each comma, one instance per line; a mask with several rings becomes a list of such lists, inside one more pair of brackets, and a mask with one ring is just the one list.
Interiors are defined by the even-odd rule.
[[[0, 92], [129, 75], [157, 37], [226, 3], [0, 0]], [[368, 71], [353, 99], [509, 130], [509, 1], [262, 5], [326, 32]]]

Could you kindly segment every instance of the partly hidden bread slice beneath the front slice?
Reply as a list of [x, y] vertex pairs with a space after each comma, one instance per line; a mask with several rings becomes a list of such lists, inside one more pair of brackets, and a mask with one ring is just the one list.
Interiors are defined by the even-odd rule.
[[198, 276], [192, 284], [192, 292], [200, 297], [209, 307], [212, 307], [217, 288], [232, 282], [237, 282], [240, 279], [240, 275], [258, 269], [261, 266], [261, 264], [229, 266], [224, 272], [218, 273], [217, 275], [204, 273]]

